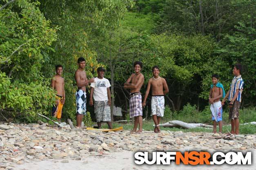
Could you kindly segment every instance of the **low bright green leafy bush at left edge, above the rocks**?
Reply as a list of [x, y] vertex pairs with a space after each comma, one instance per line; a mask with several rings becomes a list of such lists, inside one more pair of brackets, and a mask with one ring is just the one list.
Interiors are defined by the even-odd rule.
[[10, 78], [2, 72], [0, 80], [0, 109], [4, 113], [12, 113], [12, 117], [33, 122], [38, 118], [36, 113], [48, 114], [49, 106], [55, 102], [53, 89], [40, 82], [11, 83]]

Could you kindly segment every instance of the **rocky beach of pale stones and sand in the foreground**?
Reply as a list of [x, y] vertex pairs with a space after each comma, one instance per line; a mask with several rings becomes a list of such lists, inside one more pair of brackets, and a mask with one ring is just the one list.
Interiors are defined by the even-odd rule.
[[[134, 152], [145, 151], [252, 151], [256, 135], [220, 135], [143, 131], [100, 132], [48, 124], [0, 123], [0, 170], [30, 169], [169, 169], [179, 166], [137, 166]], [[254, 156], [252, 156], [252, 164]], [[185, 169], [193, 166], [180, 165]], [[220, 168], [227, 165], [218, 166]], [[253, 166], [253, 165], [252, 165]], [[87, 168], [82, 168], [87, 167]], [[235, 166], [239, 168], [239, 166]], [[196, 166], [200, 168], [200, 166]], [[209, 167], [207, 167], [209, 169]], [[216, 167], [217, 168], [217, 167]], [[252, 169], [250, 166], [244, 168]], [[243, 169], [244, 169], [243, 168]], [[194, 168], [193, 168], [194, 169]], [[236, 168], [235, 168], [236, 169]]]

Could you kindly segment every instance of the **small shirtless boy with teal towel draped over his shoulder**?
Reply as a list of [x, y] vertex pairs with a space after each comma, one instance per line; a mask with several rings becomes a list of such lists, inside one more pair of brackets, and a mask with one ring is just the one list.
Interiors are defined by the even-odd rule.
[[214, 133], [217, 131], [217, 122], [219, 123], [219, 133], [222, 133], [222, 105], [220, 98], [225, 97], [225, 90], [223, 85], [218, 82], [219, 76], [217, 74], [211, 76], [211, 81], [212, 85], [209, 93], [211, 120], [213, 120], [214, 124]]

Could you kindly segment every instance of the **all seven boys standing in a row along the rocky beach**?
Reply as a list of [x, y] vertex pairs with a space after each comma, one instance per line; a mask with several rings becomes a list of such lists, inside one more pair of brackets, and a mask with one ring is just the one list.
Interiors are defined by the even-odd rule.
[[[155, 123], [154, 132], [160, 132], [160, 119], [164, 116], [165, 98], [164, 95], [169, 92], [168, 85], [164, 78], [159, 76], [160, 69], [158, 66], [152, 68], [153, 77], [149, 79], [147, 91], [144, 100], [140, 89], [144, 83], [144, 76], [141, 73], [142, 63], [134, 62], [134, 72], [124, 84], [125, 89], [130, 89], [129, 94], [129, 114], [130, 118], [134, 118], [134, 128], [131, 133], [142, 132], [142, 107], [145, 107], [146, 100], [151, 89], [151, 116]], [[62, 65], [56, 65], [56, 75], [51, 80], [51, 87], [57, 91], [56, 105], [53, 106], [53, 116], [58, 120], [61, 118], [62, 107], [65, 103], [64, 78], [61, 77], [63, 71]], [[229, 119], [231, 120], [231, 133], [239, 133], [239, 107], [241, 103], [241, 94], [243, 91], [243, 79], [241, 78], [241, 65], [236, 64], [233, 69], [234, 79], [229, 91], [225, 95], [223, 85], [218, 82], [218, 75], [212, 76], [211, 90], [209, 93], [209, 102], [211, 103], [212, 120], [214, 121], [214, 133], [216, 133], [216, 123], [219, 122], [220, 133], [222, 131], [222, 106], [225, 100], [229, 100]], [[109, 129], [112, 129], [111, 124], [111, 86], [109, 80], [104, 78], [105, 69], [99, 67], [97, 69], [98, 76], [96, 78], [87, 79], [85, 72], [85, 59], [78, 59], [78, 69], [75, 72], [76, 85], [76, 123], [80, 127], [82, 118], [86, 115], [86, 87], [90, 83], [90, 100], [89, 105], [94, 105], [94, 113], [98, 128], [101, 128], [101, 122], [107, 122]], [[222, 102], [220, 98], [223, 97]], [[137, 127], [139, 129], [137, 131]]]

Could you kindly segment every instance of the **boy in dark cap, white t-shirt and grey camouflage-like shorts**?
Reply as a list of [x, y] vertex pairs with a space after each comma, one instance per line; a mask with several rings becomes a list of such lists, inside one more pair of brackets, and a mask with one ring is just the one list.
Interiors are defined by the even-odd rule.
[[91, 83], [91, 94], [89, 105], [93, 105], [94, 113], [96, 114], [96, 121], [98, 128], [101, 128], [101, 122], [107, 122], [109, 129], [112, 129], [111, 124], [111, 94], [110, 83], [107, 78], [104, 78], [105, 69], [99, 67], [97, 69], [98, 77], [94, 78], [94, 83]]

